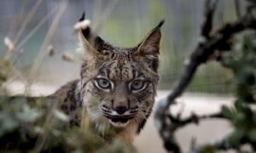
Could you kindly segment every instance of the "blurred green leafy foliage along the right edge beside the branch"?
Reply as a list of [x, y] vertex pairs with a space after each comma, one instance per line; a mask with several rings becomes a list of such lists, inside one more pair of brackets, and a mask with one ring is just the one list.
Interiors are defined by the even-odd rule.
[[222, 113], [234, 127], [229, 143], [239, 149], [251, 144], [256, 150], [256, 35], [246, 34], [233, 52], [224, 56], [224, 65], [234, 74], [236, 101], [232, 107], [223, 106]]

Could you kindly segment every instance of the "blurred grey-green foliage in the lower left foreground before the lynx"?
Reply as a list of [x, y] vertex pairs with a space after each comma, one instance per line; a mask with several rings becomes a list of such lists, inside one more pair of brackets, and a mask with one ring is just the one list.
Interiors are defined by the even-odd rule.
[[92, 126], [67, 127], [67, 116], [44, 99], [0, 97], [0, 152], [136, 152], [119, 139], [106, 143]]

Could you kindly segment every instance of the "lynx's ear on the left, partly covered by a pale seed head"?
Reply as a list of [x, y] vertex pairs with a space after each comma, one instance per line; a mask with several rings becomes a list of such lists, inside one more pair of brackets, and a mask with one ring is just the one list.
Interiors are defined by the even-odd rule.
[[101, 37], [97, 36], [90, 28], [90, 20], [84, 20], [85, 14], [82, 14], [79, 22], [75, 25], [79, 33], [79, 40], [84, 54], [98, 55], [102, 50], [108, 47], [108, 42], [105, 42]]

